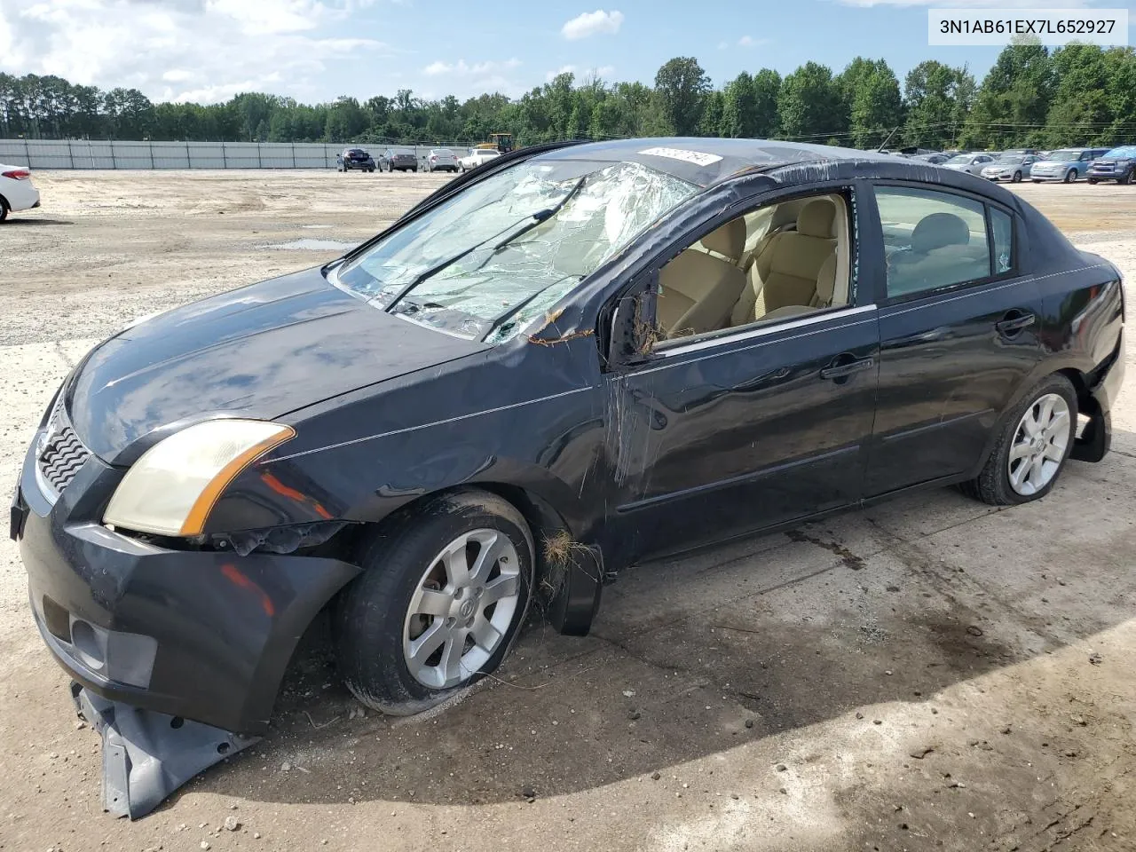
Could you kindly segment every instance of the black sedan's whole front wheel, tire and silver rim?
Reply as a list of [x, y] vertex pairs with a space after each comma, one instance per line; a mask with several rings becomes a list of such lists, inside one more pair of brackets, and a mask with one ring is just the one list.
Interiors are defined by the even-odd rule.
[[[443, 561], [451, 546], [462, 554], [461, 565], [471, 568], [486, 546], [498, 558], [484, 569], [481, 584], [471, 575], [461, 585]], [[340, 674], [367, 707], [410, 716], [468, 690], [508, 654], [528, 609], [533, 536], [520, 512], [495, 494], [451, 492], [419, 507], [407, 523], [376, 533], [361, 566], [362, 574], [340, 593], [333, 609]], [[492, 594], [491, 587], [509, 594], [478, 603]], [[444, 617], [423, 613], [440, 605], [448, 608]], [[484, 645], [474, 638], [478, 630]], [[412, 670], [415, 642], [425, 644]]]

